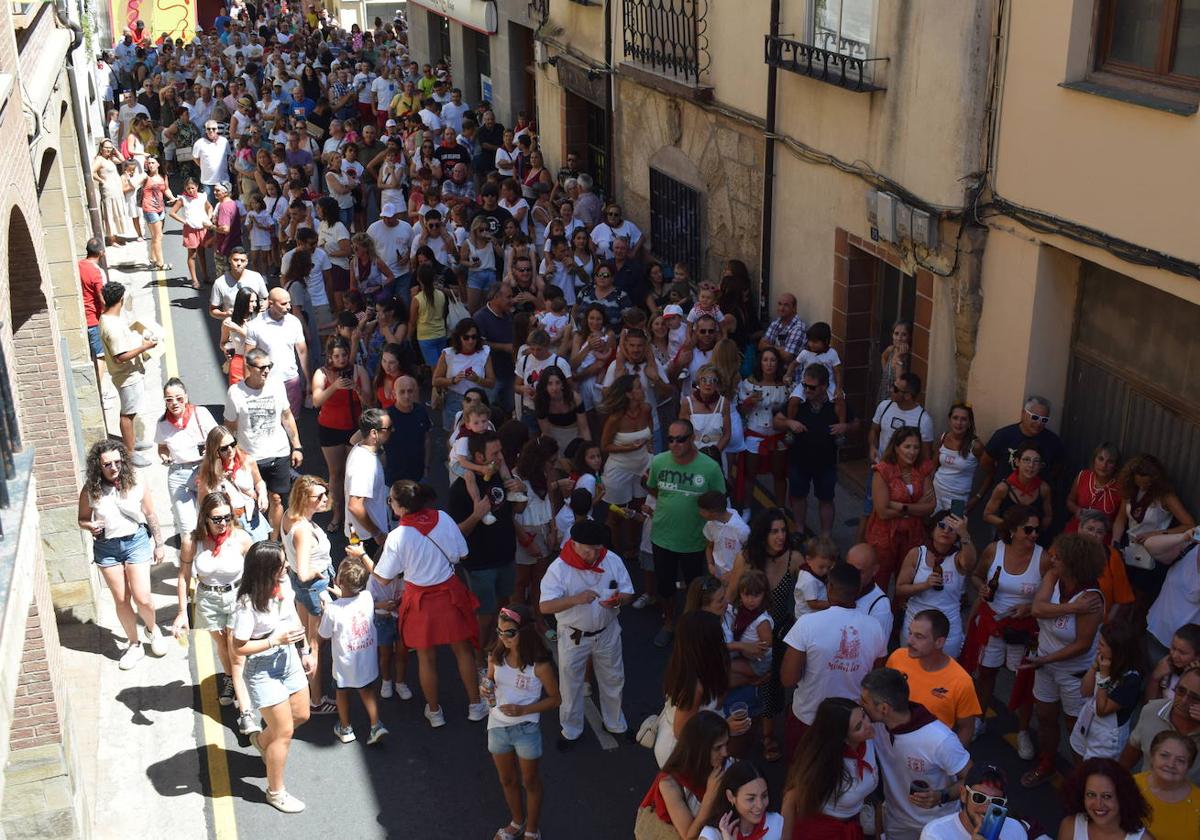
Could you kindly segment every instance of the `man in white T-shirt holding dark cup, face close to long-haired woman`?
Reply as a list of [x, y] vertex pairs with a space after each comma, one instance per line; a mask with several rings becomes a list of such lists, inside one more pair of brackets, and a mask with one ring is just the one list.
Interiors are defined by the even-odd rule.
[[895, 668], [866, 674], [859, 701], [875, 724], [880, 767], [888, 770], [883, 774], [888, 840], [918, 840], [926, 823], [958, 811], [971, 755], [949, 726], [908, 701], [908, 680]]

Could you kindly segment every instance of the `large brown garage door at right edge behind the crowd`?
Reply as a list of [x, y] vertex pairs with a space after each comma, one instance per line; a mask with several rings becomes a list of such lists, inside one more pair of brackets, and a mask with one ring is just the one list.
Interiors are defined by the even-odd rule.
[[1105, 440], [1124, 457], [1150, 452], [1200, 512], [1200, 306], [1091, 264], [1080, 298], [1063, 419], [1072, 464]]

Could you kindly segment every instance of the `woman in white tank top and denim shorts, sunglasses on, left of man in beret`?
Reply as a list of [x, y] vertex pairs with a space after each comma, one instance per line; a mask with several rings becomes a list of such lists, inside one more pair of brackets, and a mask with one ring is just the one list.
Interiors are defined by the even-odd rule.
[[[558, 708], [558, 677], [550, 650], [527, 606], [514, 604], [500, 607], [496, 632], [496, 647], [487, 658], [487, 679], [492, 688], [486, 696], [487, 704], [492, 707], [487, 715], [487, 751], [496, 762], [496, 773], [512, 820], [494, 836], [517, 840], [523, 827], [526, 840], [538, 840], [541, 838], [538, 827], [542, 800], [541, 778], [538, 775], [541, 758], [541, 727], [538, 721], [542, 712]], [[522, 787], [524, 804], [521, 802]]]

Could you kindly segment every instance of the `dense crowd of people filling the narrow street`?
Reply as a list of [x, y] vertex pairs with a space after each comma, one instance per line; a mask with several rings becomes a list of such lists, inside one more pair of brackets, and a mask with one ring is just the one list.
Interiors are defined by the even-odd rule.
[[[760, 320], [738, 260], [656, 262], [578, 156], [551, 172], [524, 114], [505, 127], [449, 66], [410, 61], [402, 18], [344, 31], [234, 0], [187, 41], [134, 28], [101, 73], [104, 239], [145, 238], [170, 270], [164, 220], [181, 227], [228, 392], [217, 422], [185, 385], [205, 354], [180, 359], [143, 416], [168, 470], [154, 499], [136, 420], [158, 336], [89, 242], [120, 440], [89, 452], [79, 526], [133, 668], [139, 617], [166, 652], [149, 569], [169, 504], [170, 634], [210, 632], [269, 804], [304, 809], [284, 775], [310, 718], [352, 742], [356, 696], [367, 743], [388, 736], [410, 653], [445, 726], [448, 647], [487, 721], [499, 840], [541, 836], [540, 716], [570, 751], [589, 696], [660, 768], [640, 840], [1198, 835], [1200, 530], [1153, 455], [1102, 443], [1070, 480], [1044, 397], [991, 434], [965, 402], [932, 416], [906, 322], [854, 416], [829, 324], [788, 293]], [[847, 439], [871, 470], [839, 545]], [[661, 712], [632, 725], [624, 607], [656, 611], [670, 648]], [[971, 754], [1007, 719], [986, 716], [1001, 668], [1014, 780]], [[1010, 793], [1060, 770], [1062, 824], [1022, 820]]]

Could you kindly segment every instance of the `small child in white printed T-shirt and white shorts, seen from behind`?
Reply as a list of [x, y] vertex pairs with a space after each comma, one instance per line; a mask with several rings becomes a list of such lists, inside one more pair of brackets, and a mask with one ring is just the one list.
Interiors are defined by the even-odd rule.
[[388, 730], [379, 722], [374, 682], [379, 678], [378, 641], [374, 629], [374, 599], [366, 590], [371, 577], [370, 560], [349, 556], [337, 571], [341, 595], [325, 606], [317, 631], [331, 642], [334, 680], [337, 685], [337, 722], [334, 734], [343, 744], [354, 740], [350, 726], [350, 689], [359, 692], [371, 720], [367, 743], [374, 744]]

